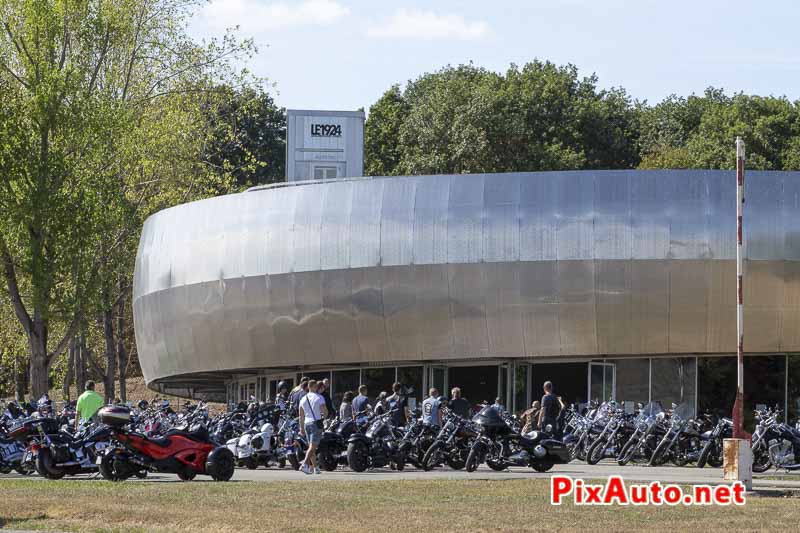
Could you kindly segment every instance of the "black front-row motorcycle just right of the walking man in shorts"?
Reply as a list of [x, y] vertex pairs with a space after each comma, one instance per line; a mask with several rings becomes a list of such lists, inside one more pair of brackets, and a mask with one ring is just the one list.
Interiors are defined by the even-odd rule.
[[350, 435], [347, 440], [347, 464], [351, 470], [363, 472], [368, 468], [387, 465], [396, 470], [405, 468], [406, 453], [400, 442], [402, 435], [391, 424], [393, 414], [394, 410], [378, 415], [365, 432]]

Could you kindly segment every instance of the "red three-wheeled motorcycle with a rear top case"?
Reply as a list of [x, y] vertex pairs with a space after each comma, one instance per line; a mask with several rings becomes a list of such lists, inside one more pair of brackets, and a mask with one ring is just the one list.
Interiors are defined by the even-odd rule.
[[188, 432], [171, 429], [164, 436], [152, 437], [126, 428], [131, 413], [125, 407], [103, 407], [98, 417], [114, 440], [114, 445], [97, 458], [100, 474], [109, 481], [122, 481], [142, 470], [177, 474], [183, 481], [197, 474], [211, 476], [214, 481], [233, 477], [233, 454], [213, 443], [204, 425]]

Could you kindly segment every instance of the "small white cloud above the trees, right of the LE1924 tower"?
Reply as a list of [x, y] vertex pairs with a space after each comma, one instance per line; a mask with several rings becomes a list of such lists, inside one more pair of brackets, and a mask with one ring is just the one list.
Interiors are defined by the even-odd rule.
[[461, 15], [399, 9], [383, 23], [370, 27], [367, 35], [384, 39], [474, 41], [486, 37], [489, 32], [485, 22], [468, 22]]

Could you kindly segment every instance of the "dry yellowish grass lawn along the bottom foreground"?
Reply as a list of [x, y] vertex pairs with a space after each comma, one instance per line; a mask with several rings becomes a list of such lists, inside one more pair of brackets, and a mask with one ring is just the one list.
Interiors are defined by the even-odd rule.
[[[745, 507], [551, 507], [549, 481], [113, 484], [0, 479], [0, 527], [55, 531], [797, 530], [800, 498]], [[300, 499], [305, 502], [301, 505]], [[308, 503], [309, 499], [315, 501]]]

